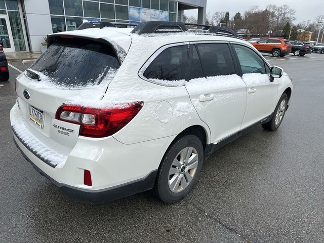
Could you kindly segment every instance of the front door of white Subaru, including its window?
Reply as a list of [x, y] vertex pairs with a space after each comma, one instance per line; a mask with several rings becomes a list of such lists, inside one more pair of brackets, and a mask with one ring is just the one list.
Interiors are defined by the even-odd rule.
[[242, 72], [242, 80], [248, 87], [247, 109], [241, 129], [247, 128], [269, 116], [275, 106], [278, 80], [270, 81], [270, 68], [260, 55], [250, 47], [233, 44]]

